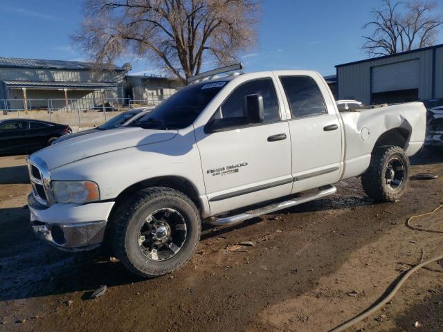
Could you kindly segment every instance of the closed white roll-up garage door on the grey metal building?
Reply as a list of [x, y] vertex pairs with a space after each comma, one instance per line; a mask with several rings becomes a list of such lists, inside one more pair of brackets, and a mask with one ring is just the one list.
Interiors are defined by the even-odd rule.
[[372, 67], [372, 93], [418, 89], [419, 60]]

